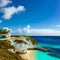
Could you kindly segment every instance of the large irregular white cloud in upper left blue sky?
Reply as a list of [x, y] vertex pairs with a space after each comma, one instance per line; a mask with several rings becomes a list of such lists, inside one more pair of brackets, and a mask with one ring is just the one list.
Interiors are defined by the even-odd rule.
[[24, 6], [18, 6], [17, 8], [12, 6], [12, 7], [6, 7], [1, 9], [1, 12], [4, 13], [4, 15], [2, 16], [4, 19], [10, 19], [12, 15], [22, 11], [25, 11]]

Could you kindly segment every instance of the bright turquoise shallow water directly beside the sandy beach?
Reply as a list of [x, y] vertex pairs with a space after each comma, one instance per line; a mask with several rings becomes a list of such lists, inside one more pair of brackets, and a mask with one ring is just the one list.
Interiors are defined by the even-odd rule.
[[42, 51], [35, 51], [34, 60], [60, 60], [60, 58], [52, 57]]

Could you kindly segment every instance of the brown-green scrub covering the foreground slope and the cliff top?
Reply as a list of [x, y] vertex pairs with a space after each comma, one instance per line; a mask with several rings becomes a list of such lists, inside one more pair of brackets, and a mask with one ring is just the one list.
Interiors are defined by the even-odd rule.
[[[21, 40], [20, 38], [21, 36], [13, 36], [13, 37], [11, 36], [9, 40], [14, 40], [14, 42], [17, 42], [17, 44], [20, 43], [27, 44], [26, 41], [24, 41], [23, 39]], [[22, 36], [22, 38], [26, 38], [28, 42], [29, 40], [31, 40], [32, 44], [37, 44], [37, 42], [31, 37]], [[11, 42], [9, 40], [0, 40], [0, 60], [24, 60], [21, 58], [20, 55], [8, 50], [8, 49], [15, 50], [15, 47], [11, 45]]]

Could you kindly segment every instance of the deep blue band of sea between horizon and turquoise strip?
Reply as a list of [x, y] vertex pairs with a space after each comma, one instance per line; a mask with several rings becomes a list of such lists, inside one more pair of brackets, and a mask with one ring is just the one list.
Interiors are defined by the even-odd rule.
[[32, 36], [38, 43], [60, 45], [60, 36]]

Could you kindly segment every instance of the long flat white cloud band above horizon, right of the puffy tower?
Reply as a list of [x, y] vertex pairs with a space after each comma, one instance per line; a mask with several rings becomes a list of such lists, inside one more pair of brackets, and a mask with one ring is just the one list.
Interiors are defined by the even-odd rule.
[[59, 36], [60, 30], [56, 29], [31, 29], [30, 35], [39, 35], [39, 36]]

